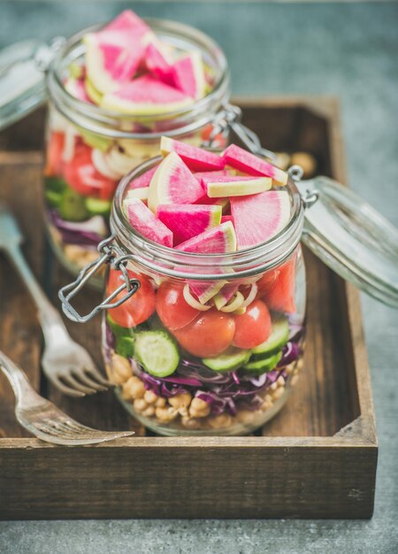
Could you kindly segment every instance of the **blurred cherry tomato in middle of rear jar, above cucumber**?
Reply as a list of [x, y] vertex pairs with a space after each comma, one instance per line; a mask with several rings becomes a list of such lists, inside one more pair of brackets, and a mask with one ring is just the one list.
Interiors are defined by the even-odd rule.
[[81, 195], [102, 200], [111, 200], [117, 186], [116, 181], [96, 170], [91, 160], [91, 148], [86, 144], [79, 144], [73, 159], [65, 163], [64, 177], [68, 185]]

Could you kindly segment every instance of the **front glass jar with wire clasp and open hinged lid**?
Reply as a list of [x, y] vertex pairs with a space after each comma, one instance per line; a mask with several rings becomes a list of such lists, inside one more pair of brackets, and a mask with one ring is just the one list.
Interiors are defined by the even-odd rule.
[[[103, 312], [109, 379], [146, 427], [160, 435], [248, 434], [279, 412], [302, 370], [300, 240], [341, 276], [398, 307], [398, 232], [339, 183], [301, 181], [293, 166], [291, 216], [271, 240], [231, 254], [172, 250], [136, 233], [122, 210], [131, 181], [158, 163], [149, 160], [120, 182], [101, 256], [59, 297], [74, 321]], [[106, 263], [105, 299], [80, 316], [71, 300]], [[195, 302], [207, 293], [210, 306]]]

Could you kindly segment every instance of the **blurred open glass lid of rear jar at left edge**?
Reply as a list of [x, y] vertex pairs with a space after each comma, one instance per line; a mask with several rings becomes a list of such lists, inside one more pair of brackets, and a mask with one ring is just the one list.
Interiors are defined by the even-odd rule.
[[23, 41], [0, 50], [0, 130], [33, 112], [47, 99], [46, 73], [62, 38], [50, 45]]

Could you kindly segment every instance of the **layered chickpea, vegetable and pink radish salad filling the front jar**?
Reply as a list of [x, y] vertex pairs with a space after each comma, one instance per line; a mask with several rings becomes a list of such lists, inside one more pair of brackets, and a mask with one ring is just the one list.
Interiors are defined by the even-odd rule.
[[[222, 262], [220, 254], [244, 254], [287, 227], [287, 173], [264, 159], [234, 144], [218, 154], [169, 137], [161, 152], [163, 161], [128, 182], [123, 212], [134, 236], [170, 249], [170, 259]], [[106, 313], [103, 353], [134, 417], [163, 435], [241, 435], [279, 411], [302, 364], [299, 245], [244, 278], [236, 266], [237, 278], [223, 279], [231, 267], [222, 263], [210, 281], [127, 268], [141, 286]], [[111, 268], [107, 296], [122, 282]]]

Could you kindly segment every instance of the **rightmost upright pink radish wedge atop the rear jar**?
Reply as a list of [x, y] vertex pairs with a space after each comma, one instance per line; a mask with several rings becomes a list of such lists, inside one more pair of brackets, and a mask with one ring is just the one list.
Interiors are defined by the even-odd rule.
[[175, 87], [180, 88], [191, 98], [203, 98], [206, 90], [204, 66], [199, 50], [193, 50], [172, 65], [172, 79]]

